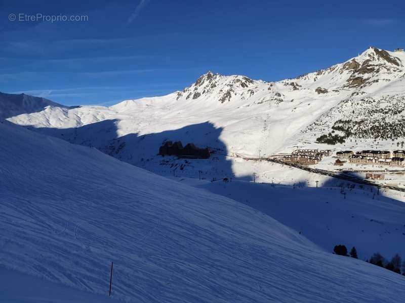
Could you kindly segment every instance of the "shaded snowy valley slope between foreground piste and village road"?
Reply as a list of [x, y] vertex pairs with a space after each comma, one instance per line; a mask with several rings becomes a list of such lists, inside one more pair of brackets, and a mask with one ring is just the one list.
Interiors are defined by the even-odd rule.
[[[389, 197], [385, 190], [377, 193], [376, 188], [350, 184], [353, 188], [345, 186], [343, 195], [341, 188], [326, 178], [320, 180], [319, 188], [307, 187], [305, 182], [286, 186], [237, 180], [179, 180], [263, 212], [326, 251], [342, 243], [348, 249], [355, 246], [362, 260], [370, 259], [375, 252], [387, 259], [395, 254], [405, 256], [405, 205], [398, 197]], [[398, 194], [403, 198], [403, 193]]]

